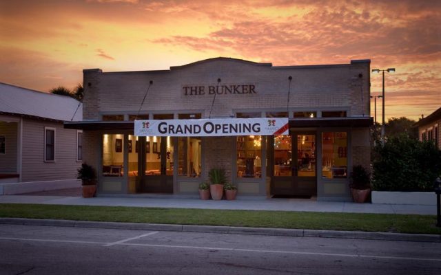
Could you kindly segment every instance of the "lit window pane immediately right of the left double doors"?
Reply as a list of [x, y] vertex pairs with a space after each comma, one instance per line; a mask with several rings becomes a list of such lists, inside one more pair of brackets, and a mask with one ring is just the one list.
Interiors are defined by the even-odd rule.
[[178, 137], [178, 175], [201, 175], [201, 137]]

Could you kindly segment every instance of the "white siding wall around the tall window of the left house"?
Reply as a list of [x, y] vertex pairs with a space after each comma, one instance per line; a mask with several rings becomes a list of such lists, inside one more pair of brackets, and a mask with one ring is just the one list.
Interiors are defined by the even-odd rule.
[[[55, 162], [44, 162], [44, 127], [55, 128]], [[23, 119], [22, 181], [75, 179], [76, 130], [63, 129], [62, 122]]]

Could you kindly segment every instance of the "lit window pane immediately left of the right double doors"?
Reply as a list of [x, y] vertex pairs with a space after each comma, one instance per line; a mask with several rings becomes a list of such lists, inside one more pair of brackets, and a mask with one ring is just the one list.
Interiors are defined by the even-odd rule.
[[238, 177], [262, 177], [262, 136], [237, 137], [236, 170]]

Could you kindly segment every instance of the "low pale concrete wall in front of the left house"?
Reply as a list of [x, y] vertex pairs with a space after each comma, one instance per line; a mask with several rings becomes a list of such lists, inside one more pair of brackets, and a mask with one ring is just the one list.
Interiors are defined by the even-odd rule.
[[12, 184], [0, 184], [0, 195], [16, 195], [46, 190], [76, 188], [81, 186], [81, 179], [63, 179], [57, 181], [30, 181]]

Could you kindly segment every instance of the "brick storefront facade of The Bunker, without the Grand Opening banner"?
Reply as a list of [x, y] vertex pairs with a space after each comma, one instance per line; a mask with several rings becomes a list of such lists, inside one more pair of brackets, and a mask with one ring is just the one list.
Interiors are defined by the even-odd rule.
[[[83, 130], [99, 194], [196, 195], [216, 167], [239, 196], [349, 200], [351, 167], [370, 164], [369, 66], [212, 58], [163, 71], [85, 69], [83, 121], [65, 127]], [[219, 118], [289, 118], [289, 135], [134, 135], [134, 120]]]

